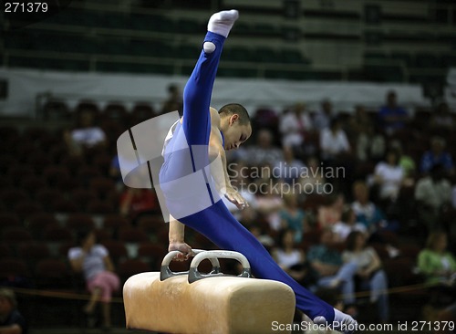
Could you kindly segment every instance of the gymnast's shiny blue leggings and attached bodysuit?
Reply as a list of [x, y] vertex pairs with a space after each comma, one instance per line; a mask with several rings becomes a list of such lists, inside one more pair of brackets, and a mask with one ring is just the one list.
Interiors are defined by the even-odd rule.
[[[211, 134], [211, 116], [209, 112], [212, 86], [217, 72], [217, 67], [222, 53], [224, 37], [208, 32], [204, 41], [215, 44], [215, 51], [202, 54], [192, 72], [184, 89], [183, 97], [183, 120], [181, 126], [174, 131], [174, 136], [168, 145], [168, 152], [165, 151], [165, 162], [161, 167], [161, 183], [176, 180], [188, 175], [190, 170], [196, 172], [207, 166], [209, 162], [207, 145]], [[176, 145], [182, 146], [179, 141], [186, 139], [190, 147], [190, 153], [172, 151]], [[194, 154], [192, 145], [204, 145], [204, 154]], [[171, 148], [171, 149], [170, 149]], [[213, 189], [211, 178], [206, 178], [207, 189]], [[177, 201], [176, 193], [192, 193], [190, 189], [170, 189], [163, 187], [162, 191], [170, 213], [179, 210], [182, 205], [180, 198]], [[168, 196], [169, 195], [169, 196]], [[176, 197], [177, 196], [177, 197]], [[185, 205], [192, 205], [192, 201], [198, 194], [192, 193], [187, 196]], [[210, 239], [215, 245], [222, 249], [233, 250], [244, 254], [252, 266], [255, 277], [280, 281], [291, 287], [295, 292], [296, 307], [301, 309], [310, 318], [323, 316], [331, 323], [334, 320], [334, 308], [323, 300], [319, 299], [305, 287], [300, 286], [292, 277], [288, 276], [260, 242], [242, 224], [234, 219], [223, 201], [220, 201], [217, 194], [211, 194], [212, 205], [206, 209], [179, 218], [182, 224], [192, 227], [202, 235]], [[179, 203], [177, 203], [179, 202]], [[179, 213], [177, 213], [179, 214]]]

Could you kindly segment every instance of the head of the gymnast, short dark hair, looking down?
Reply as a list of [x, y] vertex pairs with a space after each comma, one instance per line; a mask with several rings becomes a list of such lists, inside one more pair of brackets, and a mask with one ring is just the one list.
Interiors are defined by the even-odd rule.
[[235, 150], [252, 135], [249, 113], [237, 103], [230, 103], [219, 110], [220, 130], [223, 132], [224, 149]]

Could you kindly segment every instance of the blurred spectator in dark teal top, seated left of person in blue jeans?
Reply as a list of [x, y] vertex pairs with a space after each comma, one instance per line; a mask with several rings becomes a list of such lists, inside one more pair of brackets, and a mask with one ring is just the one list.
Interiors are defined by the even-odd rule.
[[323, 230], [320, 244], [310, 247], [307, 261], [316, 275], [317, 287], [340, 287], [344, 303], [352, 305], [355, 302], [353, 278], [358, 266], [355, 263], [343, 263], [340, 252], [334, 247], [335, 242], [332, 230]]

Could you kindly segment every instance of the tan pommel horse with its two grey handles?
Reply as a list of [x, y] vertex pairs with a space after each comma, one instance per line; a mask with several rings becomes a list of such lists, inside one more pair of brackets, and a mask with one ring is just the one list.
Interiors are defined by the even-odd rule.
[[[174, 273], [170, 263], [178, 251], [163, 258], [161, 272], [130, 277], [123, 287], [128, 329], [176, 334], [290, 333], [295, 314], [295, 293], [284, 283], [256, 279], [241, 253], [193, 250], [188, 272]], [[220, 272], [218, 258], [232, 258], [243, 266], [239, 277]], [[209, 259], [212, 271], [198, 266]]]

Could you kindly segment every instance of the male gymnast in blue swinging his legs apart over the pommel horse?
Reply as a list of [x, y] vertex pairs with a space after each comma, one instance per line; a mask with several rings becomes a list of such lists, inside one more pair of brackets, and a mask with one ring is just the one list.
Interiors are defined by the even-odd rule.
[[[223, 42], [237, 18], [236, 10], [211, 16], [202, 53], [183, 92], [183, 116], [164, 142], [160, 188], [171, 215], [169, 250], [181, 251], [179, 259], [191, 255], [192, 248], [184, 242], [184, 226], [190, 226], [221, 249], [244, 254], [255, 277], [291, 287], [296, 307], [316, 324], [350, 332], [347, 328], [353, 330], [357, 322], [289, 277], [219, 197], [222, 193], [240, 209], [248, 205], [231, 186], [225, 159], [225, 151], [236, 149], [252, 134], [248, 113], [239, 104], [228, 104], [218, 113], [210, 108]], [[217, 160], [222, 164], [213, 167]]]

